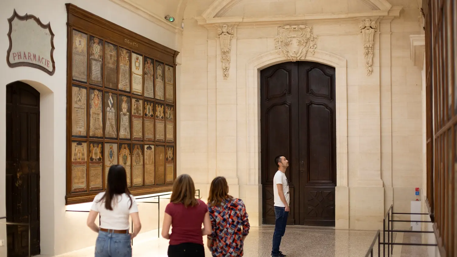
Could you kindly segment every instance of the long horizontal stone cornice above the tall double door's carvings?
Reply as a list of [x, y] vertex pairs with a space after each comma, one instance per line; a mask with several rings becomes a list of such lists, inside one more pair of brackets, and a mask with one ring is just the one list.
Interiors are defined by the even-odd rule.
[[364, 19], [383, 19], [394, 18], [400, 16], [401, 6], [394, 6], [390, 10], [373, 10], [360, 12], [347, 12], [338, 14], [307, 14], [307, 15], [292, 15], [292, 16], [267, 16], [267, 17], [220, 17], [220, 18], [205, 18], [197, 16], [195, 19], [198, 24], [208, 28], [214, 26], [222, 26], [224, 24], [233, 25], [272, 25], [284, 26], [288, 24], [299, 24], [305, 22], [324, 22], [324, 21], [358, 21]]

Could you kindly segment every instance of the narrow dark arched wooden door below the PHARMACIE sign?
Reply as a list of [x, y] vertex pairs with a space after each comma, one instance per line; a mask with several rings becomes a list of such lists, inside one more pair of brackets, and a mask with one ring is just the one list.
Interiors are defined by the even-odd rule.
[[[6, 86], [6, 221], [31, 224], [31, 255], [40, 254], [40, 94]], [[49, 201], [53, 199], [48, 199]], [[28, 227], [6, 225], [7, 257], [28, 256]]]

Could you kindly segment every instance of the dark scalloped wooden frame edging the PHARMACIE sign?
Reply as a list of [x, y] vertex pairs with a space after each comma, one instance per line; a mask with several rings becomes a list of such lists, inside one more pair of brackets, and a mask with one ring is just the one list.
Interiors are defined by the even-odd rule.
[[[33, 21], [37, 22], [38, 26], [42, 27], [43, 29], [48, 29], [49, 34], [51, 35], [51, 63], [52, 63], [52, 67], [53, 67], [52, 71], [49, 71], [48, 69], [44, 68], [43, 66], [40, 66], [35, 63], [28, 63], [28, 62], [10, 63], [10, 53], [11, 53], [11, 49], [13, 47], [13, 42], [11, 40], [11, 32], [12, 32], [11, 23], [14, 21], [14, 19], [18, 19], [20, 21], [27, 21], [27, 20], [32, 19]], [[11, 68], [21, 67], [21, 66], [37, 68], [52, 76], [56, 70], [56, 67], [55, 67], [55, 62], [54, 62], [54, 33], [51, 30], [51, 23], [48, 22], [48, 24], [43, 24], [43, 22], [41, 22], [39, 18], [37, 18], [34, 15], [29, 15], [27, 13], [24, 16], [20, 16], [19, 14], [17, 14], [16, 9], [15, 9], [13, 11], [13, 15], [8, 19], [8, 25], [9, 25], [8, 40], [10, 41], [10, 46], [8, 47], [8, 50], [6, 51], [6, 63], [8, 64], [8, 66]]]

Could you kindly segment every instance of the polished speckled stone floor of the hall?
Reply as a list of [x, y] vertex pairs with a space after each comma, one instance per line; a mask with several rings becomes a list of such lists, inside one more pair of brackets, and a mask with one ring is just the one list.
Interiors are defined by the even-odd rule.
[[[244, 245], [244, 257], [269, 257], [273, 230], [273, 226], [252, 227]], [[281, 251], [288, 257], [364, 257], [375, 234], [372, 231], [287, 226]], [[395, 237], [396, 235], [394, 240]], [[204, 240], [206, 241], [206, 238]], [[166, 257], [167, 247], [167, 240], [157, 238], [157, 230], [143, 233], [133, 242], [133, 257]], [[419, 257], [416, 252], [420, 251], [419, 249], [402, 250], [401, 257]], [[93, 252], [94, 248], [88, 247], [58, 257], [93, 257]], [[208, 250], [206, 256], [211, 256]], [[377, 244], [374, 256], [377, 256]]]

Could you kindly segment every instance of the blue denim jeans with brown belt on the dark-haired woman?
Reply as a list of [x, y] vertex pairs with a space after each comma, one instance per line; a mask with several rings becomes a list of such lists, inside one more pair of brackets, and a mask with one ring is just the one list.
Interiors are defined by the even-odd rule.
[[130, 235], [99, 231], [95, 257], [132, 257]]

